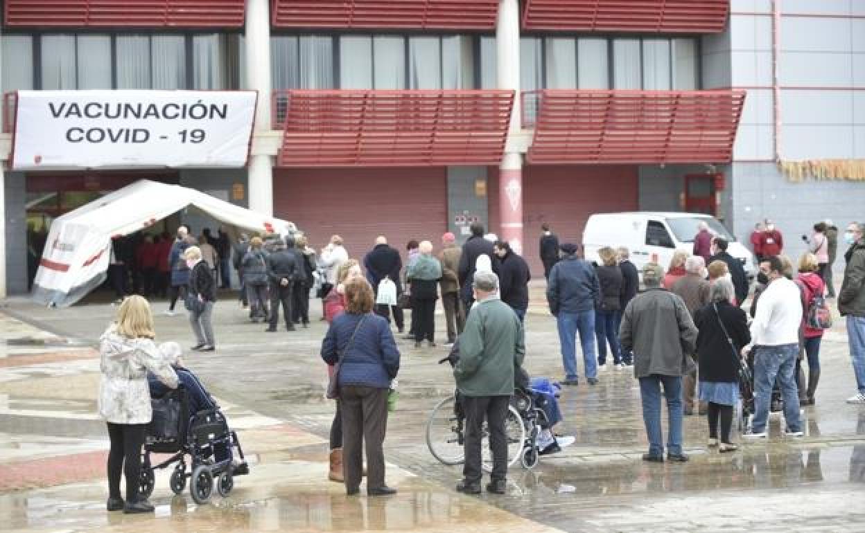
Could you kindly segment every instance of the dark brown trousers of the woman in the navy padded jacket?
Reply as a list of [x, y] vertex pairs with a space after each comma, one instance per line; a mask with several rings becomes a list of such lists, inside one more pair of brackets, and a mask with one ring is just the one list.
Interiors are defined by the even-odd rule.
[[388, 390], [341, 386], [343, 477], [346, 490], [361, 485], [363, 448], [367, 449], [367, 490], [384, 483], [384, 435], [388, 431]]

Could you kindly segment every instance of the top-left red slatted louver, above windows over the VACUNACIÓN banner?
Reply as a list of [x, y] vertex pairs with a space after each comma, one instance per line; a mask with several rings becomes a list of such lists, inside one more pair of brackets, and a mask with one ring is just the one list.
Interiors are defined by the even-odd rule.
[[244, 0], [6, 0], [11, 27], [240, 28]]

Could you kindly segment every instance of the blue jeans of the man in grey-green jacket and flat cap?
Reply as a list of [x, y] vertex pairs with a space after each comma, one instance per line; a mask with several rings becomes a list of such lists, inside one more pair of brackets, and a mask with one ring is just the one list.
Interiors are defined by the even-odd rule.
[[667, 398], [667, 453], [682, 454], [682, 378], [652, 374], [640, 378], [640, 397], [643, 399], [643, 422], [649, 437], [649, 454], [663, 456], [663, 431], [661, 428], [661, 384], [663, 396]]

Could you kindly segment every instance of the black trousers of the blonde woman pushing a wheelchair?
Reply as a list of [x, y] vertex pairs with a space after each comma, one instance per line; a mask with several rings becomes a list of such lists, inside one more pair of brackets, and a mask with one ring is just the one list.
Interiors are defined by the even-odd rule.
[[138, 501], [138, 485], [141, 478], [141, 447], [144, 445], [144, 429], [147, 424], [108, 425], [108, 494], [111, 498], [122, 498], [120, 473], [126, 477], [126, 502]]

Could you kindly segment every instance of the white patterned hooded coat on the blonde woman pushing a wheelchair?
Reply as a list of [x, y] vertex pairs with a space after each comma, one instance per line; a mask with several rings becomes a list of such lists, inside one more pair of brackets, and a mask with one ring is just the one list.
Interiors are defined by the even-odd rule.
[[127, 339], [112, 324], [99, 338], [99, 415], [114, 424], [151, 422], [147, 371], [174, 389], [177, 374], [151, 339]]

